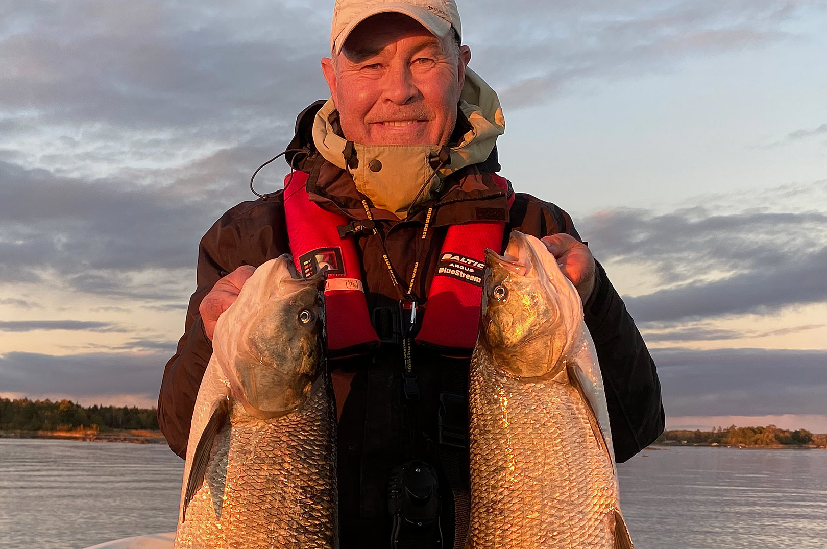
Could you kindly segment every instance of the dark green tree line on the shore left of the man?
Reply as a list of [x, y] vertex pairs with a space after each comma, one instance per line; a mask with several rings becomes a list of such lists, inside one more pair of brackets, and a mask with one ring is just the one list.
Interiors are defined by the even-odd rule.
[[158, 429], [155, 408], [89, 406], [71, 400], [0, 399], [0, 429], [74, 431], [92, 429]]

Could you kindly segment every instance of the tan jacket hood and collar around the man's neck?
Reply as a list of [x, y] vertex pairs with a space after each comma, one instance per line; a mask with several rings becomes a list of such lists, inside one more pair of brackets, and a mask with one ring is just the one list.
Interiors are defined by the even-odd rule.
[[414, 203], [432, 198], [442, 179], [487, 160], [505, 131], [500, 99], [471, 69], [466, 69], [458, 109], [459, 131], [447, 147], [370, 146], [350, 143], [336, 131], [336, 107], [328, 99], [313, 117], [313, 145], [325, 160], [351, 174], [356, 189], [376, 208], [404, 219]]

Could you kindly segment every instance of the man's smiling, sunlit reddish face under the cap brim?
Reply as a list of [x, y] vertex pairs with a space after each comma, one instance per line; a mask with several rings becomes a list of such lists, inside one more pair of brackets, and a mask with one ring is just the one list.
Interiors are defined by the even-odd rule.
[[322, 60], [342, 133], [361, 145], [445, 145], [471, 50], [457, 56], [409, 17], [382, 13], [362, 21], [336, 62]]

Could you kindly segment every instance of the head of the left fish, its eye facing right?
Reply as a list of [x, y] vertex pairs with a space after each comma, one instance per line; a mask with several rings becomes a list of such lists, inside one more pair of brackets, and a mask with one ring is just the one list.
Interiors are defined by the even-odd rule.
[[324, 274], [302, 279], [289, 255], [272, 261], [256, 270], [233, 303], [234, 349], [225, 350], [222, 361], [233, 395], [260, 419], [304, 403], [324, 364]]

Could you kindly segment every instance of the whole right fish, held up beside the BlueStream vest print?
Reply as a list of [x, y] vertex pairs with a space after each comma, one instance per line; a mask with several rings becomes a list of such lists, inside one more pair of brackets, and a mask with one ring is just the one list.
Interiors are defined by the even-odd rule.
[[581, 298], [543, 241], [485, 251], [467, 549], [632, 549]]

